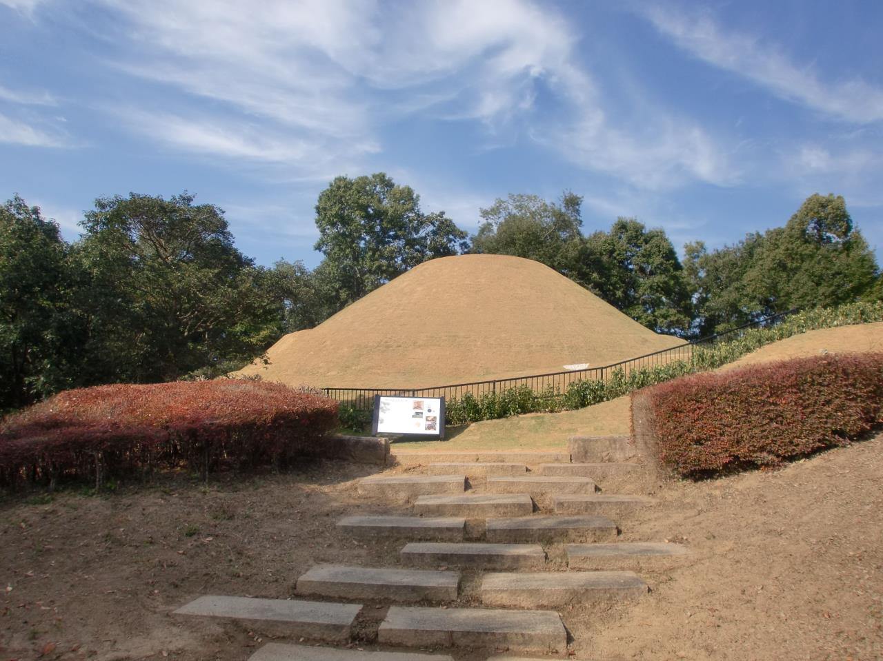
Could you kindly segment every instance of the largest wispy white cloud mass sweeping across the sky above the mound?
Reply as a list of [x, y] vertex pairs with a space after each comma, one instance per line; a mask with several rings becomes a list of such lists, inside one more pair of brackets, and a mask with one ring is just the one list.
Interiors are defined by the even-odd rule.
[[[370, 162], [382, 131], [419, 113], [479, 121], [496, 145], [526, 125], [581, 168], [640, 188], [737, 178], [695, 122], [606, 108], [570, 22], [531, 0], [266, 0], [260, 11], [238, 0], [93, 1], [118, 19], [108, 41], [126, 44], [107, 64], [182, 93], [145, 94], [117, 116], [185, 152], [315, 179]], [[540, 93], [555, 106], [548, 116]]]

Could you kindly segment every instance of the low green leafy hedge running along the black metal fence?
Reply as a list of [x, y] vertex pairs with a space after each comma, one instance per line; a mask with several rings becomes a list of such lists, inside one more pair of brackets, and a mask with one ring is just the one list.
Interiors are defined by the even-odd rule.
[[854, 326], [883, 321], [883, 302], [851, 303], [836, 308], [816, 308], [796, 312], [779, 324], [766, 328], [749, 328], [742, 334], [721, 342], [694, 345], [689, 360], [676, 360], [664, 365], [642, 367], [626, 372], [615, 369], [608, 379], [582, 380], [571, 383], [563, 392], [549, 387], [539, 393], [530, 387], [507, 388], [478, 397], [464, 394], [460, 399], [445, 402], [446, 424], [466, 424], [493, 420], [525, 413], [552, 413], [564, 409], [582, 409], [592, 404], [629, 394], [642, 387], [696, 372], [706, 372], [732, 363], [772, 342], [819, 328]]

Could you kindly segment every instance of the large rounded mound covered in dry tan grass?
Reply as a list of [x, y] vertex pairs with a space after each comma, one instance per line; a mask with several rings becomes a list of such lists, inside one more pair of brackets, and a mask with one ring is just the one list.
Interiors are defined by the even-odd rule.
[[600, 366], [682, 341], [653, 333], [539, 262], [433, 259], [285, 335], [240, 373], [291, 386], [433, 387]]

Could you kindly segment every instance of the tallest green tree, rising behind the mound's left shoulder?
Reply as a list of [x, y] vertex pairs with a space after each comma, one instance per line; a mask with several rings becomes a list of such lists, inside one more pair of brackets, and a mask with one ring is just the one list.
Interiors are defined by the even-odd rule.
[[410, 186], [382, 172], [336, 177], [319, 195], [316, 250], [336, 309], [358, 300], [427, 259], [455, 255], [466, 233], [444, 212], [424, 214]]

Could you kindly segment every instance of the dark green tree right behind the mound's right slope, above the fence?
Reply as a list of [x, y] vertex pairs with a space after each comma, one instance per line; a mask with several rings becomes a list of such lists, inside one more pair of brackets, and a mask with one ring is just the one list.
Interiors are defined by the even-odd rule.
[[577, 280], [658, 333], [687, 334], [691, 291], [663, 229], [618, 218], [610, 231], [585, 238]]

